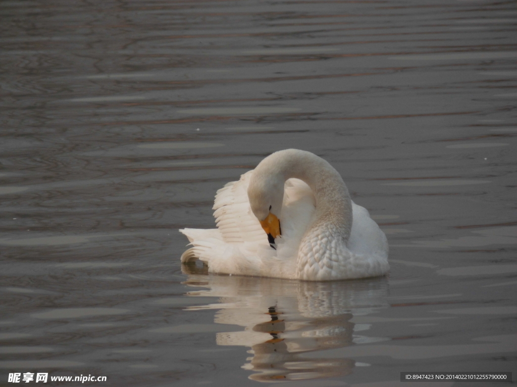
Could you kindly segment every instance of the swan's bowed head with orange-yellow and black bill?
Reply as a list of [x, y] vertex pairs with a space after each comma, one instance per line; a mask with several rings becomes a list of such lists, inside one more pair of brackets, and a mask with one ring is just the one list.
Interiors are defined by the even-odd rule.
[[[258, 168], [257, 168], [258, 169]], [[275, 243], [280, 232], [280, 213], [284, 198], [284, 181], [255, 169], [248, 186], [251, 211], [260, 221], [269, 243]]]

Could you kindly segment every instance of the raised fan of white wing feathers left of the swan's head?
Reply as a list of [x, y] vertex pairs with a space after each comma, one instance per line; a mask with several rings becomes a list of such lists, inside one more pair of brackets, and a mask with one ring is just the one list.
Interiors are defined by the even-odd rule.
[[251, 212], [248, 185], [253, 171], [240, 176], [240, 180], [227, 183], [217, 191], [214, 217], [222, 239], [227, 243], [263, 242], [267, 235]]

